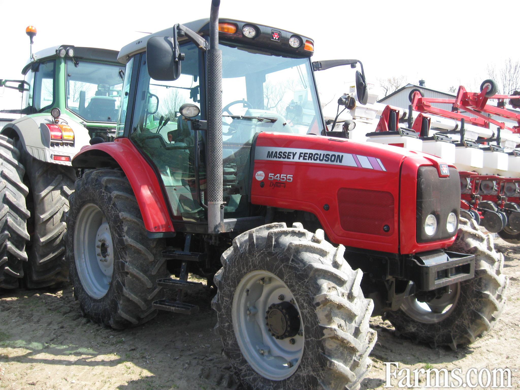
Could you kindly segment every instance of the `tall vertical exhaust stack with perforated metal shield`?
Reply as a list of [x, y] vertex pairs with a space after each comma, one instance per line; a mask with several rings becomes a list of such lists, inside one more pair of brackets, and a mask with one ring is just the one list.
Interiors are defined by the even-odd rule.
[[222, 51], [218, 49], [218, 7], [212, 0], [210, 13], [210, 49], [207, 50], [207, 224], [208, 232], [223, 229], [223, 163], [222, 163]]

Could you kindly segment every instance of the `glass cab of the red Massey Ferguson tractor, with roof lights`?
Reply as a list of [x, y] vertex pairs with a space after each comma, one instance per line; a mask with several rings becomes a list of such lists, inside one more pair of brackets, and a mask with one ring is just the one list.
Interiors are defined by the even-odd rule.
[[[185, 27], [209, 39], [209, 19]], [[178, 49], [184, 57], [180, 73], [175, 80], [161, 81], [158, 78], [167, 77], [150, 74], [147, 56], [151, 54], [145, 51], [149, 40], [173, 33], [164, 30], [121, 50], [119, 60], [126, 63], [125, 97], [117, 135], [131, 139], [153, 163], [174, 225], [204, 223], [206, 165], [212, 158], [206, 157], [206, 132], [200, 131], [207, 120], [207, 53], [179, 36]], [[219, 40], [224, 218], [247, 218], [253, 215], [248, 191], [255, 136], [323, 133], [310, 61], [314, 43], [302, 35], [229, 19], [219, 19]]]

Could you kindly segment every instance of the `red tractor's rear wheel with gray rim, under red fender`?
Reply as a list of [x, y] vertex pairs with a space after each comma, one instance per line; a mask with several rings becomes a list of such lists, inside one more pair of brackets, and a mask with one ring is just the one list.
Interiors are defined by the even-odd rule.
[[147, 237], [125, 175], [99, 169], [78, 179], [67, 226], [66, 258], [84, 316], [115, 329], [155, 317], [152, 302], [163, 296], [156, 281], [167, 275], [164, 242]]

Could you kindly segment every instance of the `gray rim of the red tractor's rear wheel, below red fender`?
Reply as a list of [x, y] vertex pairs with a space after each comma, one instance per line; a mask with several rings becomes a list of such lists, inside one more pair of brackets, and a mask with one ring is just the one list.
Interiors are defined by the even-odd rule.
[[101, 299], [110, 288], [113, 252], [105, 216], [95, 204], [85, 204], [77, 215], [74, 229], [74, 262], [83, 289], [95, 299]]

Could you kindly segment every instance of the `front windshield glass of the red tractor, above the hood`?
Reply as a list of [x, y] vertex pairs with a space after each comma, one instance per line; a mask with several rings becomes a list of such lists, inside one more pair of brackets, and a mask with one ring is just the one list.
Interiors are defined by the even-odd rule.
[[[250, 127], [254, 134], [274, 131], [320, 134], [318, 99], [308, 58], [270, 54], [251, 47], [221, 45], [223, 57], [223, 131]], [[260, 116], [276, 121], [254, 121], [234, 115]], [[252, 135], [252, 134], [251, 134]]]

